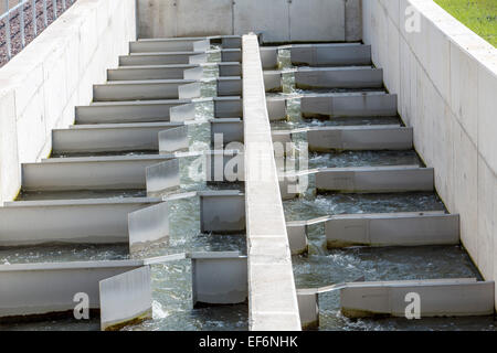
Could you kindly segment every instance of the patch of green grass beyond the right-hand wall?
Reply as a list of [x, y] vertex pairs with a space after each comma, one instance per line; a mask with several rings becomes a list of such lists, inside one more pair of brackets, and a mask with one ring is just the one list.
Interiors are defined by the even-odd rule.
[[497, 0], [435, 0], [435, 2], [497, 47]]

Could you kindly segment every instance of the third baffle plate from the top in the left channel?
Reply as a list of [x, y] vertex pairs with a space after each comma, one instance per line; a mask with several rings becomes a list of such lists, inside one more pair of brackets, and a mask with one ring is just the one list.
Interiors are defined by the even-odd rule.
[[107, 69], [108, 81], [145, 79], [194, 79], [200, 81], [203, 68], [200, 65], [142, 65]]

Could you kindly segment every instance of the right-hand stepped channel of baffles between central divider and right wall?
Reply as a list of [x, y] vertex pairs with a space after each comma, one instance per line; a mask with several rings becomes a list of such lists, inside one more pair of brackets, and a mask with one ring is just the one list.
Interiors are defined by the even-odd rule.
[[[409, 212], [400, 207], [389, 207], [391, 211], [384, 213], [361, 208], [366, 205], [359, 202], [361, 199], [378, 205], [382, 200], [394, 199], [404, 203], [435, 191], [434, 170], [421, 162], [415, 165], [367, 164], [367, 158], [371, 159], [374, 153], [404, 153], [413, 149], [413, 129], [398, 118], [396, 97], [383, 90], [383, 72], [371, 66], [368, 45], [292, 44], [279, 46], [276, 52], [279, 68], [276, 72], [274, 67], [268, 68], [268, 75], [281, 74], [276, 81], [279, 79], [283, 93], [269, 93], [267, 100], [284, 101], [284, 111], [272, 124], [274, 143], [292, 145], [292, 149], [282, 154], [278, 173], [302, 327], [329, 329], [329, 322], [336, 321], [329, 318], [331, 310], [340, 311], [345, 318], [371, 322], [378, 317], [404, 318], [406, 296], [412, 292], [421, 298], [422, 318], [491, 315], [494, 282], [477, 279], [479, 274], [474, 268], [467, 271], [474, 278], [467, 279], [457, 277], [458, 271], [446, 274], [446, 278], [433, 277], [436, 270], [427, 278], [416, 277], [415, 280], [408, 272], [404, 278], [399, 275], [389, 278], [388, 274], [366, 275], [353, 282], [349, 279], [335, 285], [321, 279], [329, 276], [320, 271], [342, 271], [337, 265], [326, 267], [325, 264], [329, 264], [326, 254], [340, 257], [350, 252], [373, 252], [374, 248], [393, 254], [408, 253], [410, 248], [422, 254], [425, 249], [425, 254], [430, 254], [434, 246], [445, 249], [458, 246], [459, 216], [445, 210], [424, 208], [429, 205], [422, 204], [417, 210], [415, 204], [404, 206]], [[278, 83], [271, 85], [278, 86]], [[387, 119], [398, 119], [398, 122], [382, 125], [381, 121]], [[366, 124], [358, 125], [355, 120]], [[347, 156], [358, 160], [340, 168], [303, 169], [300, 164], [297, 170], [288, 169], [288, 162], [302, 161], [300, 154], [311, 154], [317, 161], [328, 154], [330, 160], [340, 154], [345, 154], [340, 157], [343, 160]], [[296, 192], [303, 180], [307, 182], [304, 183], [306, 186]], [[340, 197], [356, 200], [353, 208], [358, 213], [316, 213], [320, 206], [315, 203], [329, 204], [332, 210], [336, 205], [331, 200]], [[409, 256], [404, 261], [409, 263]], [[329, 296], [338, 296], [339, 302], [330, 300]], [[324, 308], [326, 304], [320, 302], [324, 298], [326, 304], [336, 307]], [[322, 315], [325, 320], [320, 320]]]

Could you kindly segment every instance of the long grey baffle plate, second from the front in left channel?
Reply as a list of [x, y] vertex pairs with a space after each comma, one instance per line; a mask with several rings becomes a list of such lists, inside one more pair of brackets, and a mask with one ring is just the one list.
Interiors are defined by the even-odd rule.
[[161, 203], [150, 197], [10, 202], [0, 207], [0, 246], [128, 243], [128, 215]]

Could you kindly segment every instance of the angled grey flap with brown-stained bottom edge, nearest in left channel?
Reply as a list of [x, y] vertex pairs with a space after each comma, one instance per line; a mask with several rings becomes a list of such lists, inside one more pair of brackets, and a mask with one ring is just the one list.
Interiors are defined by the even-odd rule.
[[150, 266], [101, 280], [101, 330], [118, 330], [151, 319], [150, 281]]

